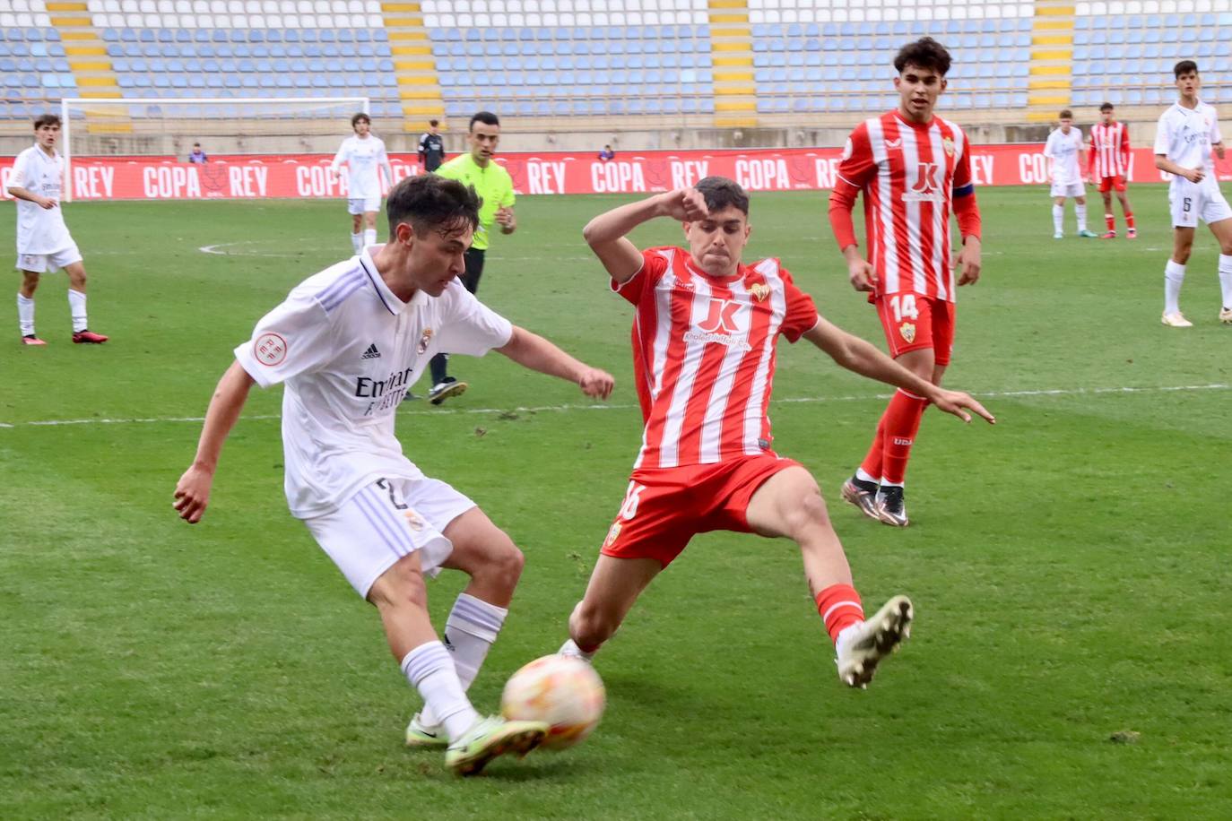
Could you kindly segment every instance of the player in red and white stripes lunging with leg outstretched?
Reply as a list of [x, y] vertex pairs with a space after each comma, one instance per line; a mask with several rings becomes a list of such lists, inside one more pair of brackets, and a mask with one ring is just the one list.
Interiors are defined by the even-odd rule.
[[[992, 416], [967, 394], [941, 390], [825, 321], [779, 260], [740, 262], [752, 230], [748, 212], [743, 188], [706, 177], [696, 188], [609, 210], [585, 228], [612, 289], [637, 309], [633, 366], [646, 430], [561, 651], [589, 659], [695, 534], [756, 533], [800, 545], [839, 678], [864, 687], [907, 636], [912, 603], [896, 596], [865, 620], [817, 481], [771, 449], [775, 343], [780, 335], [804, 337], [844, 368], [928, 396], [963, 420], [971, 419], [963, 407]], [[687, 250], [639, 251], [627, 239], [660, 217], [684, 223]]]

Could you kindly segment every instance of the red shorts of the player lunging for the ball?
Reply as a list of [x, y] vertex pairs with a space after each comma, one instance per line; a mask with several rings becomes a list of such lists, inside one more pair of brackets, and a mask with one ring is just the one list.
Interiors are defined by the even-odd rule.
[[770, 453], [686, 468], [634, 470], [601, 553], [657, 559], [667, 567], [707, 531], [752, 533], [745, 511], [758, 487], [800, 465]]

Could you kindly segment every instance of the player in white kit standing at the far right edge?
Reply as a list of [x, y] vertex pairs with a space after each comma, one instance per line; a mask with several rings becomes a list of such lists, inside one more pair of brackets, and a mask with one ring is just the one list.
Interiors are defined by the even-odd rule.
[[1220, 244], [1220, 321], [1232, 324], [1232, 208], [1220, 191], [1211, 149], [1223, 159], [1223, 138], [1215, 108], [1198, 98], [1202, 81], [1198, 64], [1181, 60], [1173, 68], [1180, 98], [1159, 116], [1156, 129], [1156, 167], [1173, 175], [1168, 187], [1172, 206], [1172, 258], [1163, 270], [1163, 319], [1169, 327], [1193, 327], [1180, 313], [1180, 286], [1194, 250], [1194, 229], [1201, 219]]

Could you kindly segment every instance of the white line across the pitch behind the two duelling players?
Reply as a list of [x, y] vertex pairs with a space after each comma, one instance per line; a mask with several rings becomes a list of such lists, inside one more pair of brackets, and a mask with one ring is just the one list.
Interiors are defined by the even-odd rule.
[[[1161, 385], [1154, 388], [1055, 388], [1048, 390], [991, 390], [977, 394], [981, 400], [987, 399], [1013, 399], [1019, 396], [1106, 396], [1127, 394], [1169, 394], [1199, 390], [1232, 390], [1232, 385], [1212, 383], [1206, 385]], [[774, 405], [793, 405], [801, 402], [861, 402], [877, 399], [890, 399], [893, 394], [859, 394], [850, 396], [788, 396], [786, 399], [774, 399]], [[400, 416], [429, 416], [429, 415], [457, 415], [457, 414], [547, 414], [568, 411], [594, 411], [594, 410], [632, 410], [637, 405], [617, 404], [590, 404], [590, 405], [538, 405], [520, 407], [424, 407], [421, 410], [402, 410]], [[255, 416], [243, 416], [249, 421], [281, 419], [278, 414], [264, 414]], [[203, 422], [203, 416], [153, 416], [133, 419], [48, 419], [30, 422], [0, 422], [0, 428], [14, 427], [52, 427], [59, 425], [152, 425], [163, 422]]]

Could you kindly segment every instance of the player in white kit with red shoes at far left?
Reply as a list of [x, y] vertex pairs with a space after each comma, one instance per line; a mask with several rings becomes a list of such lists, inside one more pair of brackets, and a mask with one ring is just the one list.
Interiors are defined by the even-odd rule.
[[64, 158], [55, 150], [59, 137], [59, 117], [42, 114], [34, 119], [34, 144], [17, 155], [9, 177], [9, 193], [17, 199], [16, 267], [22, 273], [17, 292], [17, 324], [21, 343], [47, 345], [34, 334], [34, 290], [42, 274], [63, 270], [69, 277], [73, 341], [99, 345], [107, 337], [87, 327], [85, 266], [60, 210]]

